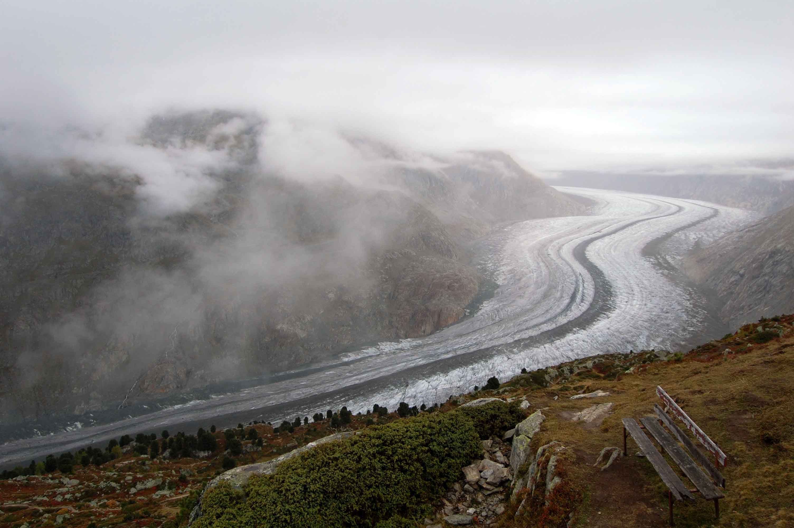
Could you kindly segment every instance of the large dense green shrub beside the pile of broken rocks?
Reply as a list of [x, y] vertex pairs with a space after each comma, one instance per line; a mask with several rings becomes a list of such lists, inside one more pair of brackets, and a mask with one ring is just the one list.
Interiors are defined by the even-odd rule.
[[437, 499], [481, 450], [462, 412], [375, 426], [301, 453], [274, 475], [252, 476], [245, 495], [218, 484], [195, 526], [411, 526], [403, 518]]

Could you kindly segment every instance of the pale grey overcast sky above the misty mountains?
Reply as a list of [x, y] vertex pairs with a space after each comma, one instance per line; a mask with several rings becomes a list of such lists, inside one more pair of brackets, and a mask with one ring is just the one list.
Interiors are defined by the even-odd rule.
[[0, 120], [253, 109], [538, 172], [791, 156], [794, 2], [0, 0]]

